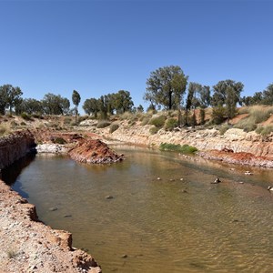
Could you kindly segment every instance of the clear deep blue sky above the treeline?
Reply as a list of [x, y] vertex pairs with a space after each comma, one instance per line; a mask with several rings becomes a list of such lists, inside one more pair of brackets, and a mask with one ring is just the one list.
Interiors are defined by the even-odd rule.
[[233, 79], [243, 96], [273, 83], [273, 0], [0, 0], [0, 86], [81, 105], [124, 89], [135, 106], [150, 73], [181, 66], [189, 81]]

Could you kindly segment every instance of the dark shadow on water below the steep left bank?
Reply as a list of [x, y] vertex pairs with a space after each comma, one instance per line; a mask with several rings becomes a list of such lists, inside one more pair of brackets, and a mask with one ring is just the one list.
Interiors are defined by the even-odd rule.
[[[22, 183], [18, 181], [22, 170], [29, 166], [35, 160], [35, 153], [29, 153], [25, 157], [22, 157], [15, 161], [9, 167], [5, 167], [1, 171], [1, 179], [5, 182], [6, 185], [12, 187], [16, 192], [19, 193], [21, 197], [28, 197], [28, 194], [22, 189]], [[15, 183], [16, 182], [16, 183]]]

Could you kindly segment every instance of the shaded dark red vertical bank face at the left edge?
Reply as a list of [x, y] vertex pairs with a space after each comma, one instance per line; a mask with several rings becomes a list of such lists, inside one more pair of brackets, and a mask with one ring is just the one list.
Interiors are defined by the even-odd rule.
[[0, 138], [0, 169], [8, 167], [35, 147], [30, 131], [18, 131]]

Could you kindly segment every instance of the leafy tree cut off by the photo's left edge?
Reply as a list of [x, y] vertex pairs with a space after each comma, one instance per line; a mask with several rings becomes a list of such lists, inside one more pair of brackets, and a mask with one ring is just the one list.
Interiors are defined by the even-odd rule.
[[19, 87], [11, 85], [0, 86], [0, 114], [5, 115], [5, 109], [9, 108], [10, 115], [15, 106], [22, 102], [23, 92]]

